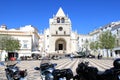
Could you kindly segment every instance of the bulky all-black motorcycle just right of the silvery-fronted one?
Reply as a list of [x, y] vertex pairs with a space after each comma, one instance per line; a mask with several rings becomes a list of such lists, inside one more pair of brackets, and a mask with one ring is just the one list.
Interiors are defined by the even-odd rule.
[[73, 80], [97, 80], [98, 69], [88, 66], [89, 62], [81, 62], [76, 68], [76, 73]]

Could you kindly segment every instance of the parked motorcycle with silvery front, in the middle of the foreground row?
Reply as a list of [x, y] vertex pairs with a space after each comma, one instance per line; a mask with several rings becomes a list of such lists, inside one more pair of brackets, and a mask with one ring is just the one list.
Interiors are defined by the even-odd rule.
[[42, 80], [70, 80], [73, 77], [71, 69], [55, 69], [57, 64], [43, 63], [35, 70], [40, 71]]

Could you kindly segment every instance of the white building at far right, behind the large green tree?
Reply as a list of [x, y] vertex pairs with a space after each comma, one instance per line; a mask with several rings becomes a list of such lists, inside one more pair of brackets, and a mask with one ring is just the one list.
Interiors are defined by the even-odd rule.
[[[96, 29], [89, 33], [89, 35], [92, 37], [92, 41], [97, 41], [99, 39], [99, 35], [103, 31], [109, 30], [113, 35], [116, 36], [116, 44], [113, 48], [112, 52], [109, 50], [108, 55], [109, 57], [120, 57], [120, 21], [117, 22], [111, 22], [110, 24], [107, 24], [105, 26], [100, 27], [99, 29]], [[101, 53], [104, 57], [107, 56], [106, 49], [98, 50], [98, 53]]]

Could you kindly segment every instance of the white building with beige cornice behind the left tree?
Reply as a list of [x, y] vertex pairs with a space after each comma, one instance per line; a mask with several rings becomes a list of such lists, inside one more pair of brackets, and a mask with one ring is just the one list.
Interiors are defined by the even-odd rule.
[[[24, 27], [20, 27], [20, 29], [7, 29], [6, 25], [2, 25], [0, 27], [0, 36], [8, 35], [17, 40], [19, 40], [21, 48], [19, 51], [20, 56], [31, 56], [33, 51], [38, 50], [39, 43], [39, 34], [38, 30], [35, 29], [32, 25], [26, 25]], [[1, 50], [1, 58], [4, 59], [8, 54], [2, 54]]]

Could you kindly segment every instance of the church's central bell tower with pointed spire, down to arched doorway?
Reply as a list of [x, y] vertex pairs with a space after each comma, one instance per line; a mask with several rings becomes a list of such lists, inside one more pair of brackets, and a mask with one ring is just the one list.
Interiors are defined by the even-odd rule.
[[64, 54], [70, 53], [71, 21], [60, 7], [56, 15], [49, 19], [50, 40], [49, 52]]

